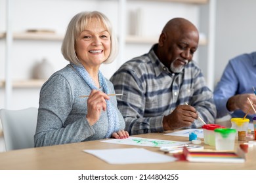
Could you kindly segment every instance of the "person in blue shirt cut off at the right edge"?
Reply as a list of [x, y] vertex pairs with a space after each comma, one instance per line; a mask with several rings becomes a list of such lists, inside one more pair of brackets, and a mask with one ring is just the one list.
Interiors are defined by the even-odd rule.
[[[217, 118], [230, 114], [232, 118], [253, 118], [254, 110], [247, 99], [256, 104], [256, 52], [230, 59], [221, 80], [213, 92]], [[253, 105], [256, 108], [256, 105]]]

